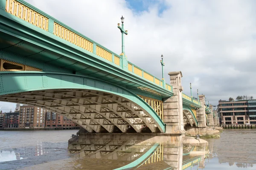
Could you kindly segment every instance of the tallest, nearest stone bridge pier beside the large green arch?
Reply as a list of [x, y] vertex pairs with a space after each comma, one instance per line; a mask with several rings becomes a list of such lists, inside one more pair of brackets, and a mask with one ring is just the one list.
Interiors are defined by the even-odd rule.
[[185, 134], [183, 126], [183, 105], [181, 86], [181, 71], [169, 72], [173, 96], [163, 101], [163, 122], [166, 124], [166, 133], [173, 135]]

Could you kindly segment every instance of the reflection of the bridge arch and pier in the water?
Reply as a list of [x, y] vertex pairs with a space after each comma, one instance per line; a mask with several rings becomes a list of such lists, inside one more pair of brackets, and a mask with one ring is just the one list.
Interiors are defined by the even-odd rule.
[[208, 143], [182, 136], [81, 135], [69, 140], [68, 150], [90, 170], [199, 169], [209, 156]]

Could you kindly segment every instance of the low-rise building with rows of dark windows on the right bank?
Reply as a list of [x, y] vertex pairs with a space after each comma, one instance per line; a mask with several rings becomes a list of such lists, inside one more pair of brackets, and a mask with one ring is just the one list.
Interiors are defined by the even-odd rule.
[[256, 124], [256, 100], [219, 100], [221, 124]]

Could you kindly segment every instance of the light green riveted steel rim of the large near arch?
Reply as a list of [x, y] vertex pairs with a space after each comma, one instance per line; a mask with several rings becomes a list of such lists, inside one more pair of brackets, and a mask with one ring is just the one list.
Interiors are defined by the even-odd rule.
[[148, 112], [161, 132], [165, 124], [157, 113], [139, 96], [131, 91], [103, 80], [74, 74], [44, 73], [41, 71], [1, 72], [0, 95], [47, 89], [88, 89], [122, 96]]

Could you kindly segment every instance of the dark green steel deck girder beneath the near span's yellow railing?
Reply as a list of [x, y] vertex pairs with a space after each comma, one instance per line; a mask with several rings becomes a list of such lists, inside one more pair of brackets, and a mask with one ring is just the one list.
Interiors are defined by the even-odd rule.
[[[35, 8], [32, 9], [38, 11]], [[44, 16], [47, 17], [45, 14]], [[48, 18], [56, 22], [54, 18]], [[15, 30], [13, 28], [15, 28]], [[74, 30], [71, 31], [79, 34]], [[6, 47], [5, 51], [13, 51], [12, 48], [16, 48], [15, 51], [17, 51], [17, 54], [21, 57], [51, 64], [52, 68], [58, 66], [59, 68], [65, 68], [70, 72], [75, 72], [76, 74], [90, 74], [92, 77], [109, 79], [110, 82], [118, 84], [122, 83], [124, 88], [137, 88], [141, 92], [141, 95], [151, 98], [162, 99], [170, 97], [173, 94], [172, 91], [168, 91], [160, 85], [156, 85], [143, 77], [139, 77], [136, 74], [131, 73], [130, 71], [124, 71], [122, 67], [112, 62], [108, 62], [96, 54], [90, 53], [83, 48], [55, 36], [49, 31], [44, 31], [43, 29], [27, 23], [26, 21], [3, 10], [0, 11], [0, 32], [0, 36], [1, 38], [3, 37], [3, 40], [5, 40], [4, 37], [9, 37], [6, 38], [6, 41], [2, 42], [3, 46]], [[8, 44], [8, 42], [12, 43]], [[103, 49], [106, 49], [96, 42], [93, 43]], [[11, 47], [13, 44], [17, 45], [15, 45], [15, 47]], [[119, 56], [112, 51], [110, 52], [115, 56]], [[120, 61], [120, 65], [121, 64], [122, 59]], [[36, 67], [38, 65], [33, 66]]]

